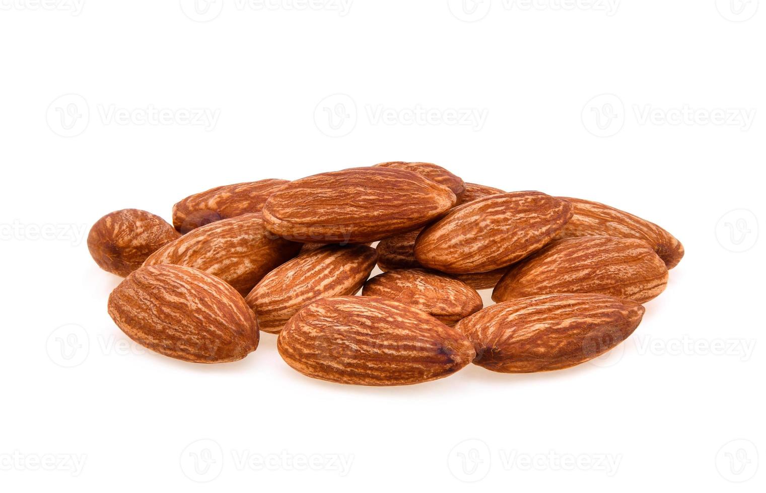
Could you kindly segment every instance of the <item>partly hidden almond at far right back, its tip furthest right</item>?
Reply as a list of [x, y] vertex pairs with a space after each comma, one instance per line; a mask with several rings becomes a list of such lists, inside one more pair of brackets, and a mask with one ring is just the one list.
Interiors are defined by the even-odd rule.
[[572, 237], [635, 238], [649, 243], [668, 269], [673, 269], [683, 258], [683, 245], [676, 237], [648, 220], [620, 211], [598, 202], [580, 198], [561, 197], [575, 209], [568, 224], [557, 239]]

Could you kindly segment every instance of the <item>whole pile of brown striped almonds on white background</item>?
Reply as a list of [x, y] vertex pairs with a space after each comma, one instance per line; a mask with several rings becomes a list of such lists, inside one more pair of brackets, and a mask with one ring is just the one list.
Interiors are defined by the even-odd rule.
[[[471, 362], [581, 364], [633, 333], [683, 257], [666, 230], [614, 207], [507, 193], [424, 162], [213, 188], [175, 204], [172, 226], [116, 211], [88, 248], [126, 276], [109, 314], [146, 348], [237, 361], [266, 331], [297, 371], [358, 385]], [[497, 304], [483, 308], [476, 289]]]

